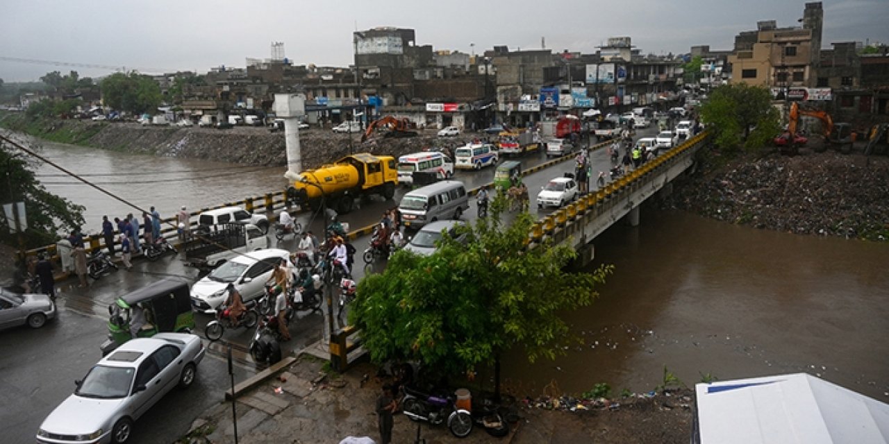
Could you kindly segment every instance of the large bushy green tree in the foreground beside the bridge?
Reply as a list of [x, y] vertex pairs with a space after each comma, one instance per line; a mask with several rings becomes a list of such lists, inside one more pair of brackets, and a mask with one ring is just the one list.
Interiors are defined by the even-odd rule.
[[613, 267], [566, 272], [571, 247], [526, 249], [534, 219], [523, 213], [502, 224], [503, 201], [458, 229], [467, 245], [445, 236], [428, 257], [399, 251], [382, 274], [361, 281], [349, 321], [373, 361], [420, 361], [445, 376], [493, 364], [499, 394], [501, 353], [523, 347], [533, 362], [581, 342], [560, 314], [590, 305]]

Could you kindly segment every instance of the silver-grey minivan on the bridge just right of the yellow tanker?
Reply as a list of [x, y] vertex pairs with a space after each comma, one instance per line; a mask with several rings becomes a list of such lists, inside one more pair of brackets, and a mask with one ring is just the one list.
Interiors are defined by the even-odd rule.
[[443, 180], [404, 194], [398, 210], [404, 226], [419, 228], [436, 220], [459, 219], [469, 210], [469, 195], [463, 182]]

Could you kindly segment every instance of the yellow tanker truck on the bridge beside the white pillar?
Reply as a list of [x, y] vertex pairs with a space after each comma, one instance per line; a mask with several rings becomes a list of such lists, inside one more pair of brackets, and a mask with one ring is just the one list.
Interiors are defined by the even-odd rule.
[[328, 208], [346, 214], [356, 197], [380, 194], [392, 199], [398, 185], [398, 163], [390, 155], [347, 155], [316, 170], [302, 171], [292, 180], [287, 188], [292, 202], [316, 209], [324, 201]]

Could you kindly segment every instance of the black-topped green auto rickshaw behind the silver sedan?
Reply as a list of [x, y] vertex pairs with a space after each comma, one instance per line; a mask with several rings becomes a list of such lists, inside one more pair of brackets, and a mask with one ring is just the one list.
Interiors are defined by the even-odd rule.
[[[117, 297], [114, 304], [108, 305], [108, 316], [108, 339], [101, 345], [102, 356], [132, 337], [195, 329], [188, 283], [178, 279], [156, 281]], [[135, 326], [132, 322], [141, 325]]]

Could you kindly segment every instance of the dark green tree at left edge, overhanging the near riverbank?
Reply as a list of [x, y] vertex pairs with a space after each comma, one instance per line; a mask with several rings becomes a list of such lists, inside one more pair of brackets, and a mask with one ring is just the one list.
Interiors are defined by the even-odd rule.
[[[46, 191], [35, 176], [36, 160], [0, 139], [0, 202], [25, 202], [28, 230], [26, 247], [56, 242], [60, 234], [84, 225], [84, 206]], [[0, 225], [0, 242], [18, 246], [18, 235]]]

